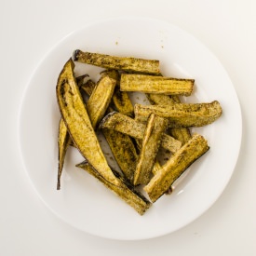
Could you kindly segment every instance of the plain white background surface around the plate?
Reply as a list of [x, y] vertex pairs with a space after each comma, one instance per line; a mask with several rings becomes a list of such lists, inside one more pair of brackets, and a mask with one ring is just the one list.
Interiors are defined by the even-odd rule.
[[[2, 0], [0, 255], [256, 255], [255, 11], [254, 0]], [[34, 193], [18, 147], [21, 96], [38, 62], [66, 34], [124, 15], [169, 21], [209, 47], [232, 79], [243, 115], [241, 152], [218, 201], [173, 234], [134, 242], [61, 222]]]

